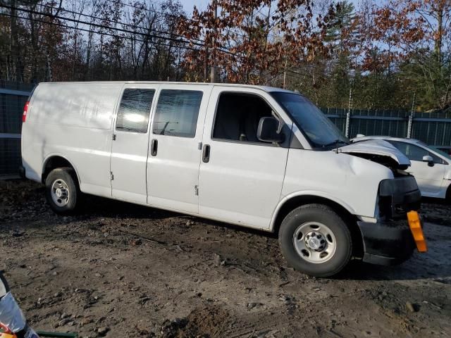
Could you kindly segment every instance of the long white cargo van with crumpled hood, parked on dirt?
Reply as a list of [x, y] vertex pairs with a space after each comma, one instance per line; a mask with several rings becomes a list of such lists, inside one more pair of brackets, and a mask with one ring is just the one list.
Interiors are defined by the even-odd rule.
[[23, 173], [57, 213], [85, 193], [276, 232], [288, 263], [316, 276], [352, 257], [400, 263], [415, 247], [409, 159], [387, 142], [350, 144], [295, 92], [41, 83], [23, 121]]

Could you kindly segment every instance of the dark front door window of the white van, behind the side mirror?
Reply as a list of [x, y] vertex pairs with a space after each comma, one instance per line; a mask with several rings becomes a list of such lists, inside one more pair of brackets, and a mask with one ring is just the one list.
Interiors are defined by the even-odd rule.
[[272, 116], [272, 109], [260, 96], [223, 93], [216, 108], [212, 138], [264, 143], [257, 138], [257, 128], [260, 119], [267, 116]]

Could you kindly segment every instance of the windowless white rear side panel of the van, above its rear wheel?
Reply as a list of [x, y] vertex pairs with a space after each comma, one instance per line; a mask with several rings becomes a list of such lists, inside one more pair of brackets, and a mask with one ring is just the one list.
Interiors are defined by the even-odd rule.
[[[23, 162], [41, 179], [44, 160], [73, 164], [82, 192], [111, 196], [111, 127], [120, 82], [42, 83], [32, 96], [23, 127]], [[27, 177], [29, 174], [27, 173]]]

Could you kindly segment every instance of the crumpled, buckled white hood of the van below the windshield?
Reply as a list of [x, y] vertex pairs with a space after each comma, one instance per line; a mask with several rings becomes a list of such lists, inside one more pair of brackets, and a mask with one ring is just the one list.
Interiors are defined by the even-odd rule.
[[[390, 162], [393, 163], [394, 161], [397, 163], [397, 169], [401, 170], [405, 170], [410, 166], [409, 158], [383, 139], [369, 139], [354, 142], [347, 146], [342, 146], [338, 149], [338, 152], [367, 158], [370, 161], [378, 163], [381, 163], [381, 161], [378, 161], [378, 158], [390, 158]], [[385, 165], [385, 161], [383, 162], [381, 164]]]

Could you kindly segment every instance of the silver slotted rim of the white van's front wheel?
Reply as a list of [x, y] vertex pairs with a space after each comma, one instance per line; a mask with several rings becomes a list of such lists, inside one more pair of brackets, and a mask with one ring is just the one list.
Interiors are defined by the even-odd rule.
[[293, 245], [304, 261], [315, 264], [329, 261], [337, 249], [335, 234], [319, 222], [299, 225], [293, 234]]

